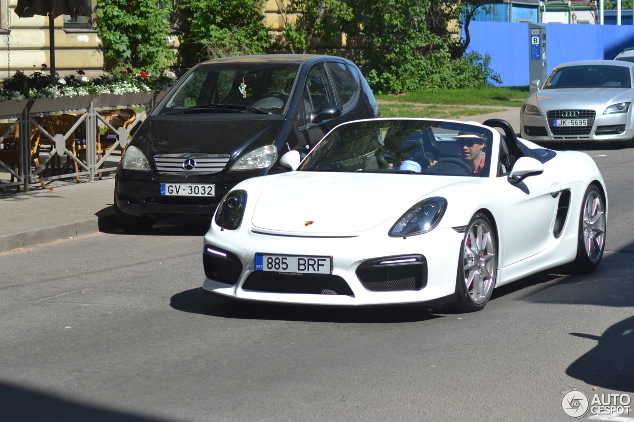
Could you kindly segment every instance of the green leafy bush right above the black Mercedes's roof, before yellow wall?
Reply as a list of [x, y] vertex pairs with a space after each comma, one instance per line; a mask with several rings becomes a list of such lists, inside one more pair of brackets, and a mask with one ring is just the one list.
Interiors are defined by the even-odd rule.
[[262, 0], [181, 0], [190, 32], [183, 37], [193, 60], [265, 54], [271, 35], [262, 20]]

